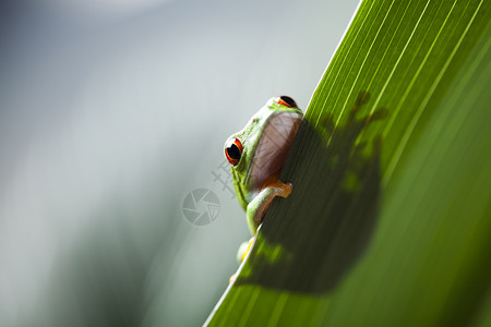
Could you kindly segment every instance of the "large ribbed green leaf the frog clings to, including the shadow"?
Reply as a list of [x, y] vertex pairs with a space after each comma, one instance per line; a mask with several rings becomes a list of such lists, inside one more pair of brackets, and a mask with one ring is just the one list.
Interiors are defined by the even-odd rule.
[[[363, 1], [212, 326], [491, 320], [489, 1]], [[322, 41], [322, 40], [319, 40]]]

